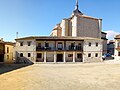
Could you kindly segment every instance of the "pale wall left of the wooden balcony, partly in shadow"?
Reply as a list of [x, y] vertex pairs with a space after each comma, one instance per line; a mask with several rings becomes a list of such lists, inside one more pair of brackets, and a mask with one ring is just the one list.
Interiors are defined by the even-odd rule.
[[[27, 42], [31, 42], [31, 45], [28, 46]], [[23, 46], [20, 46], [20, 42], [23, 42]], [[23, 53], [23, 58], [20, 57], [20, 53]], [[28, 53], [31, 53], [31, 57], [28, 57]], [[36, 60], [36, 42], [34, 39], [31, 40], [17, 40], [15, 47], [15, 56], [21, 59], [29, 59], [32, 61]]]

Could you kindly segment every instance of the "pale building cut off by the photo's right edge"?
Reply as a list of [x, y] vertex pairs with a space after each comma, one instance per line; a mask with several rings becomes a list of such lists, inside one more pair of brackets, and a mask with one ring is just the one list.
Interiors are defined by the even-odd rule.
[[120, 60], [120, 35], [115, 37], [115, 60]]

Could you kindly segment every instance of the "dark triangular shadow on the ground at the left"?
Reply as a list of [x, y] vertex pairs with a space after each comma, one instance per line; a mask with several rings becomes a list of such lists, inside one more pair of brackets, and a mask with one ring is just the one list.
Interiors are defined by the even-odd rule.
[[30, 65], [33, 64], [0, 64], [0, 74], [4, 74]]

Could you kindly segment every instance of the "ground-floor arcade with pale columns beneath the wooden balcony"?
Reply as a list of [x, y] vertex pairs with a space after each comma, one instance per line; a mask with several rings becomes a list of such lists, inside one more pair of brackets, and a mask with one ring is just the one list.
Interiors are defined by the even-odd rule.
[[36, 62], [83, 62], [82, 52], [37, 52]]

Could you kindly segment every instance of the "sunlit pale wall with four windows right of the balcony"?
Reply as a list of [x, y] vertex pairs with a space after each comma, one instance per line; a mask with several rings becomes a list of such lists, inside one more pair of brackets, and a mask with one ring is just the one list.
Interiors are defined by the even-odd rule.
[[[91, 43], [91, 46], [89, 46]], [[98, 47], [96, 47], [98, 43]], [[88, 54], [91, 53], [91, 57]], [[95, 54], [98, 53], [98, 57]], [[102, 40], [85, 40], [83, 45], [83, 61], [84, 62], [100, 62], [102, 61]]]

